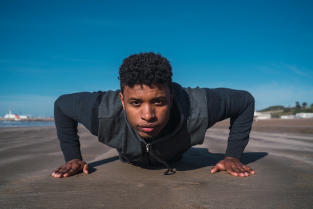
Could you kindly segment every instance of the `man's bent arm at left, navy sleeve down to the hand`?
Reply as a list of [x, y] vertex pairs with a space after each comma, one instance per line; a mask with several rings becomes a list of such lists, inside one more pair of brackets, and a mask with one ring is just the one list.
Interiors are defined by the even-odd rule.
[[54, 177], [73, 175], [84, 168], [88, 173], [88, 166], [82, 161], [78, 122], [83, 124], [91, 133], [97, 134], [97, 107], [105, 92], [81, 92], [60, 96], [54, 102], [54, 120], [57, 137], [64, 155], [65, 164], [54, 170]]

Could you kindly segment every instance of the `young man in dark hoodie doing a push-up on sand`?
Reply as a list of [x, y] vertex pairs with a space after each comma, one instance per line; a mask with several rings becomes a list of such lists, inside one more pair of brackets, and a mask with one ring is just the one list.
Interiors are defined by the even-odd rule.
[[161, 163], [167, 167], [163, 174], [168, 174], [167, 162], [179, 160], [191, 146], [201, 144], [206, 129], [225, 118], [230, 118], [225, 158], [211, 172], [254, 174], [240, 162], [253, 120], [251, 94], [228, 88], [183, 88], [171, 76], [171, 66], [160, 54], [133, 54], [119, 68], [121, 90], [60, 96], [54, 103], [54, 119], [66, 163], [52, 176], [88, 173], [77, 122], [116, 148], [122, 162]]

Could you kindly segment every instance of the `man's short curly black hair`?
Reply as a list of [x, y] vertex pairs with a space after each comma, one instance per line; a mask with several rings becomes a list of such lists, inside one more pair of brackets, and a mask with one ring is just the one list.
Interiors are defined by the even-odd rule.
[[120, 89], [124, 86], [148, 85], [154, 83], [171, 83], [171, 66], [169, 61], [159, 53], [145, 52], [132, 54], [123, 60], [119, 67]]

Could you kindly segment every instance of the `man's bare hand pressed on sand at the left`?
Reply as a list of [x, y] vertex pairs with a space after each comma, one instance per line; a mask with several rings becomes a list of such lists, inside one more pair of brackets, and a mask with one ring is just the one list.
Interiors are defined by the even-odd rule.
[[56, 168], [52, 173], [52, 176], [56, 178], [67, 177], [74, 175], [78, 171], [83, 171], [85, 174], [89, 173], [89, 165], [81, 159], [72, 159]]

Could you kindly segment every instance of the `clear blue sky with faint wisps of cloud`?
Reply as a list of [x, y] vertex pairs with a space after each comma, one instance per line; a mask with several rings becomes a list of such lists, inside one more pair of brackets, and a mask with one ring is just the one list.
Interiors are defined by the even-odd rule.
[[182, 86], [313, 103], [310, 0], [2, 0], [0, 116], [52, 116], [61, 94], [119, 88], [122, 59], [159, 52]]

